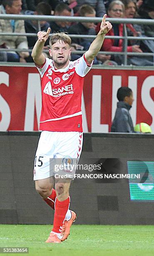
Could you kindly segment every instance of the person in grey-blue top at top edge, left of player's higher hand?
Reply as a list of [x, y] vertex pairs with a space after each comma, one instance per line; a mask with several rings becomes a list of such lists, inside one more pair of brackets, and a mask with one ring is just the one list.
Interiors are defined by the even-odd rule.
[[97, 17], [103, 17], [106, 13], [105, 5], [103, 0], [77, 0], [77, 8], [81, 5], [91, 5], [96, 10]]

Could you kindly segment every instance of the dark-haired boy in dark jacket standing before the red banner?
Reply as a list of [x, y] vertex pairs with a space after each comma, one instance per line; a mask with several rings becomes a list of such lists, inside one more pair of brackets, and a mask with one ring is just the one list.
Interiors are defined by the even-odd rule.
[[134, 133], [134, 127], [129, 110], [132, 108], [133, 92], [129, 87], [120, 87], [117, 91], [117, 110], [111, 126], [114, 133]]

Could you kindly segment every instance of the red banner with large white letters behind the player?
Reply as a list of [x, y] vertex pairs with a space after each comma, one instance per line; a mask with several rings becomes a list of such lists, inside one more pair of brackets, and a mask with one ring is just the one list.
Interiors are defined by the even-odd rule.
[[[154, 133], [154, 71], [92, 69], [84, 80], [84, 132], [108, 132], [117, 107], [117, 89], [134, 94], [134, 125], [144, 122]], [[38, 131], [40, 75], [35, 67], [0, 67], [0, 131]]]

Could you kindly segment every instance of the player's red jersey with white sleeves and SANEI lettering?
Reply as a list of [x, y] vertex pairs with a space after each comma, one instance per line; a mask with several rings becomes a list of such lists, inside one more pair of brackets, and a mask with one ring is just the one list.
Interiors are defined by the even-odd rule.
[[42, 88], [40, 130], [82, 132], [82, 89], [91, 67], [84, 55], [69, 61], [64, 69], [55, 69], [48, 58], [41, 68], [37, 67]]

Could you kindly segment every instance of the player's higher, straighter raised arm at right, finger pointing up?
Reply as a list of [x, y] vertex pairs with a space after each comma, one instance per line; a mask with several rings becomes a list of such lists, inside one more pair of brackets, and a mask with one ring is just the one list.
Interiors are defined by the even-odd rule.
[[91, 63], [93, 61], [94, 57], [97, 56], [97, 53], [99, 52], [99, 50], [102, 47], [105, 35], [112, 28], [111, 23], [109, 23], [109, 21], [105, 21], [106, 17], [107, 17], [107, 14], [104, 14], [104, 16], [102, 18], [102, 23], [101, 23], [101, 26], [100, 26], [100, 30], [99, 30], [96, 38], [94, 39], [94, 41], [90, 45], [89, 50], [85, 52], [85, 58], [87, 59], [87, 61], [89, 63]]

